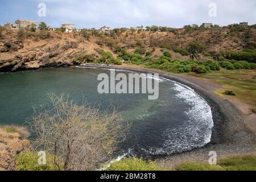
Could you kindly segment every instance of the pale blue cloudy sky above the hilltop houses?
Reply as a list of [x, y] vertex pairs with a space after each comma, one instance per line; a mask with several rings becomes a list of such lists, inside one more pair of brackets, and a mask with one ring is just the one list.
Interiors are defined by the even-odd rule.
[[[39, 3], [46, 5], [46, 14]], [[210, 7], [209, 7], [210, 6]], [[210, 15], [209, 15], [210, 12]], [[183, 27], [186, 24], [256, 23], [255, 0], [0, 0], [0, 24], [17, 19], [46, 22], [51, 27], [135, 26]]]

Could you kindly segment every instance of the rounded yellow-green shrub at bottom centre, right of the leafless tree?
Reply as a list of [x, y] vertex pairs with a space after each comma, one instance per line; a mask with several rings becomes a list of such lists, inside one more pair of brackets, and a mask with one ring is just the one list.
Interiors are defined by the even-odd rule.
[[154, 162], [144, 161], [137, 158], [122, 159], [117, 163], [111, 164], [108, 171], [163, 171], [164, 168], [157, 166]]

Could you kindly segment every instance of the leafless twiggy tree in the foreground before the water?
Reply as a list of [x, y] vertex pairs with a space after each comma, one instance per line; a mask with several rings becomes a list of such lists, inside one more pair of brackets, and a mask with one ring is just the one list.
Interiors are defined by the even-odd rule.
[[125, 138], [129, 124], [115, 109], [77, 105], [65, 94], [48, 94], [30, 120], [36, 135], [36, 150], [54, 155], [54, 163], [65, 170], [93, 170], [109, 160]]

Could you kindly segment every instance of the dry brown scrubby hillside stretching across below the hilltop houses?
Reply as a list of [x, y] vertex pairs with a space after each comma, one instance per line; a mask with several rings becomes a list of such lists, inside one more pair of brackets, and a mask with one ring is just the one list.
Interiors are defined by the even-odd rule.
[[[239, 31], [194, 30], [190, 32], [134, 32], [112, 31], [109, 35], [97, 31], [73, 33], [49, 31], [15, 31], [1, 27], [0, 32], [0, 72], [16, 72], [44, 67], [63, 67], [72, 65], [77, 56], [85, 60], [99, 59], [99, 49], [118, 56], [118, 48], [129, 53], [134, 51], [144, 57], [155, 58], [164, 50], [172, 53], [173, 59], [188, 59], [184, 51], [187, 44], [197, 41], [205, 46], [205, 51], [197, 59], [213, 59], [221, 56], [224, 50], [241, 51], [255, 49], [255, 28]], [[179, 49], [178, 51], [173, 51]], [[78, 62], [80, 63], [80, 62]], [[77, 61], [76, 61], [77, 64]]]

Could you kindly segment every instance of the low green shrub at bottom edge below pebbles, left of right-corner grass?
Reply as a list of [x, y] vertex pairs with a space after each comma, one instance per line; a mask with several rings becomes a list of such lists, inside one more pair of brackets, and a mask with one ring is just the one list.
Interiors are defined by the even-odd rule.
[[216, 165], [189, 162], [181, 164], [177, 171], [224, 171], [224, 168]]

